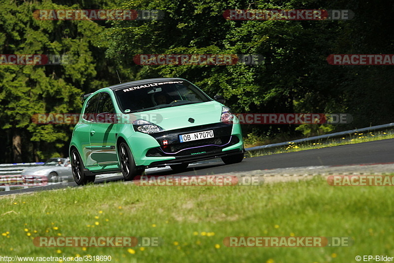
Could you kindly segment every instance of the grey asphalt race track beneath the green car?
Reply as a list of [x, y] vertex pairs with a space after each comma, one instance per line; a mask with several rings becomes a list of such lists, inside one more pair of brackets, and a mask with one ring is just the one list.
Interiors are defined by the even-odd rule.
[[[244, 159], [239, 164], [226, 165], [220, 159], [211, 160], [204, 164], [191, 165], [184, 172], [176, 175], [212, 175], [228, 172], [247, 172], [253, 170], [290, 168], [319, 165], [352, 165], [352, 164], [385, 164], [394, 162], [394, 139], [363, 142], [334, 146], [322, 149], [275, 154]], [[393, 171], [394, 172], [394, 171]], [[171, 169], [147, 171], [147, 175], [172, 175]], [[95, 184], [121, 181], [123, 176], [98, 178]], [[66, 184], [32, 187], [28, 189], [0, 192], [0, 195], [27, 193], [42, 190], [77, 187], [75, 182]]]

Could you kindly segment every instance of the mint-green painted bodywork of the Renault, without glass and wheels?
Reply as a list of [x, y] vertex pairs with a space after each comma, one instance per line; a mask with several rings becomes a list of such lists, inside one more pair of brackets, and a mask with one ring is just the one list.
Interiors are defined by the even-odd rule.
[[[151, 80], [144, 80], [143, 83], [158, 82], [158, 81], [163, 82], [165, 80], [183, 82], [184, 83], [183, 85], [190, 84], [186, 80], [180, 78], [151, 79]], [[231, 143], [229, 143], [227, 146], [224, 141], [221, 142], [221, 144], [223, 144], [223, 147], [221, 147], [220, 149], [217, 148], [215, 150], [216, 152], [219, 151], [219, 154], [211, 154], [209, 156], [207, 155], [209, 151], [204, 149], [208, 149], [209, 147], [214, 148], [215, 146], [215, 145], [212, 146], [212, 144], [210, 144], [210, 146], [192, 145], [194, 147], [190, 147], [191, 150], [188, 150], [189, 152], [187, 154], [180, 154], [183, 151], [181, 149], [179, 154], [177, 154], [176, 152], [167, 153], [167, 154], [160, 153], [163, 156], [158, 156], [160, 154], [156, 153], [156, 156], [155, 154], [152, 154], [152, 156], [150, 156], [149, 154], [150, 150], [154, 151], [155, 149], [158, 149], [158, 151], [161, 151], [163, 147], [165, 148], [165, 145], [161, 143], [161, 140], [159, 140], [158, 137], [155, 137], [157, 134], [161, 134], [161, 136], [166, 136], [167, 133], [171, 133], [173, 131], [175, 133], [176, 131], [180, 131], [180, 134], [188, 133], [187, 131], [198, 132], [201, 129], [202, 130], [210, 129], [209, 128], [210, 125], [220, 126], [222, 125], [221, 116], [223, 114], [223, 108], [225, 106], [222, 103], [209, 98], [201, 90], [198, 90], [199, 92], [201, 92], [201, 94], [203, 94], [203, 96], [207, 97], [206, 101], [204, 102], [197, 101], [196, 103], [192, 103], [192, 104], [185, 104], [185, 105], [181, 104], [176, 106], [171, 106], [171, 104], [169, 104], [168, 107], [152, 109], [152, 110], [148, 109], [146, 111], [145, 110], [133, 111], [131, 113], [127, 113], [128, 110], [126, 110], [125, 112], [125, 109], [122, 109], [119, 106], [122, 103], [120, 102], [119, 96], [122, 96], [123, 93], [119, 92], [118, 94], [120, 95], [118, 96], [116, 91], [124, 90], [125, 93], [129, 93], [129, 91], [127, 91], [126, 88], [135, 86], [136, 84], [134, 83], [139, 84], [141, 83], [141, 81], [118, 84], [108, 88], [100, 89], [92, 93], [84, 101], [81, 111], [81, 116], [85, 116], [87, 114], [85, 112], [87, 108], [87, 104], [88, 103], [93, 104], [94, 102], [93, 100], [92, 100], [93, 102], [92, 101], [89, 102], [89, 101], [95, 95], [98, 95], [99, 93], [101, 94], [107, 93], [105, 96], [108, 97], [109, 95], [113, 104], [114, 114], [118, 116], [116, 122], [108, 122], [108, 123], [90, 121], [83, 117], [80, 117], [80, 120], [76, 124], [74, 131], [72, 133], [69, 151], [71, 154], [71, 150], [74, 147], [77, 149], [79, 155], [81, 156], [85, 170], [88, 170], [92, 174], [102, 174], [108, 172], [121, 171], [120, 160], [118, 156], [118, 146], [121, 141], [125, 141], [130, 147], [135, 165], [144, 168], [163, 166], [165, 164], [178, 164], [178, 163], [186, 163], [186, 162], [191, 163], [199, 160], [220, 157], [221, 153], [226, 153], [229, 151], [232, 153], [241, 153], [241, 152], [243, 153], [244, 149], [243, 149], [241, 128], [238, 119], [233, 115], [231, 124], [228, 125], [228, 127], [226, 127], [226, 129], [230, 129], [229, 131], [231, 134], [228, 135], [230, 135], [231, 137]], [[142, 89], [147, 90], [149, 88], [150, 87], [140, 88], [140, 90]], [[130, 91], [130, 94], [132, 94], [132, 92], [133, 91]], [[101, 96], [105, 97], [104, 95], [99, 95], [96, 96], [96, 98], [99, 97], [101, 98]], [[97, 105], [98, 106], [96, 107], [98, 109], [99, 102], [97, 103]], [[193, 119], [193, 123], [190, 121], [191, 118]], [[156, 132], [156, 133], [144, 133], [144, 132], [135, 131], [135, 128], [133, 127], [133, 123], [132, 123], [133, 120], [149, 121], [150, 123], [161, 127], [162, 129], [164, 129], [164, 131]], [[194, 128], [196, 129], [193, 130]], [[185, 130], [184, 132], [183, 129], [189, 129], [189, 130], [187, 131]], [[215, 129], [219, 129], [219, 128], [215, 128]], [[219, 131], [219, 130], [215, 130], [215, 131]], [[172, 138], [174, 138], [175, 135], [178, 136], [175, 133], [172, 135]], [[198, 142], [198, 140], [196, 140], [195, 142]], [[176, 145], [180, 147], [183, 144], [176, 142]], [[194, 151], [194, 152], [190, 152], [190, 151]], [[182, 158], [180, 159], [179, 162], [177, 162], [176, 160], [179, 157], [179, 155], [182, 155], [181, 156]], [[186, 156], [189, 156], [191, 159]]]

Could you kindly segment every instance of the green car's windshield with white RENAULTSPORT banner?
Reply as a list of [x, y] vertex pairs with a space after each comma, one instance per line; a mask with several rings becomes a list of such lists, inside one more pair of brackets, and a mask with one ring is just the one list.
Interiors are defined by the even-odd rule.
[[210, 101], [196, 86], [185, 81], [131, 86], [115, 92], [124, 113]]

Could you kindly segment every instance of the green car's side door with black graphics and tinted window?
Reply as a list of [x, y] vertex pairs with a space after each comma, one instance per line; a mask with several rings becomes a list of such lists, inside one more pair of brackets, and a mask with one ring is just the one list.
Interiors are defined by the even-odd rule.
[[90, 127], [90, 150], [94, 165], [118, 164], [115, 121], [116, 114], [111, 96], [107, 92], [99, 93], [96, 118]]

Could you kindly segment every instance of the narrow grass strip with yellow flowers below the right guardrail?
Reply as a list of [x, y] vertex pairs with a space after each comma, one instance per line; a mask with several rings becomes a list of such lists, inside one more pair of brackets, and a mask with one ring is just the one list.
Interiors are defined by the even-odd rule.
[[[289, 143], [287, 146], [272, 147], [246, 152], [246, 157], [257, 157], [279, 153], [298, 152], [311, 149], [320, 149], [332, 146], [355, 144], [367, 141], [376, 141], [394, 138], [394, 130], [379, 132], [357, 132], [342, 137], [320, 139], [317, 141], [306, 141], [301, 143]], [[245, 146], [247, 148], [247, 146]]]

